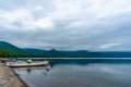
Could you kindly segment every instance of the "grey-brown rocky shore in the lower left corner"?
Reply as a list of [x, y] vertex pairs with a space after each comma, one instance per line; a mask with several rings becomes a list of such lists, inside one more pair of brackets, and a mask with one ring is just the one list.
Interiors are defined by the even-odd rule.
[[0, 63], [0, 87], [27, 87], [5, 64]]

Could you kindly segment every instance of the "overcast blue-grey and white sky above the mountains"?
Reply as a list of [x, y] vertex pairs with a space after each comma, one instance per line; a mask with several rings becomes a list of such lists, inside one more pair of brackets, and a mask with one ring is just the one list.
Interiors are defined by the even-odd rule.
[[131, 51], [131, 0], [0, 0], [0, 40], [20, 48]]

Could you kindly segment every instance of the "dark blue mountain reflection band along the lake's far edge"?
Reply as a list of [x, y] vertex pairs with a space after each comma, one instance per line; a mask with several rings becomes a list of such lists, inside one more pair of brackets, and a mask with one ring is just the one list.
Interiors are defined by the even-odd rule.
[[80, 65], [86, 65], [86, 64], [93, 64], [93, 63], [108, 63], [108, 64], [131, 64], [131, 59], [128, 60], [120, 59], [49, 59], [50, 65], [56, 64], [80, 64]]

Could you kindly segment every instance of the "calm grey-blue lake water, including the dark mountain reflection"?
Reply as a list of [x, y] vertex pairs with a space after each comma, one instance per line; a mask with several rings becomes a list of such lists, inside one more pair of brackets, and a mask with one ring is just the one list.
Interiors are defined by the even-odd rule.
[[29, 87], [131, 87], [131, 59], [50, 59], [46, 67], [14, 69]]

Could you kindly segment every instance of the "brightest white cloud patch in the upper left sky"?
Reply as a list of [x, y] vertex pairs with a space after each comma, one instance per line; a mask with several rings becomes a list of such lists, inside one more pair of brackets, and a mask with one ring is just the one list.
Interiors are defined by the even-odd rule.
[[[40, 8], [36, 7], [37, 10]], [[33, 15], [34, 11], [28, 9], [16, 9], [14, 11], [5, 12], [0, 11], [1, 26], [8, 27], [8, 29], [14, 30], [27, 30], [27, 29], [48, 29], [53, 26], [52, 20], [47, 16], [35, 20]], [[21, 25], [21, 26], [19, 26]], [[12, 27], [12, 28], [9, 28]], [[21, 28], [21, 29], [20, 29]]]

